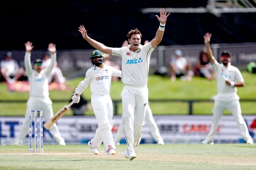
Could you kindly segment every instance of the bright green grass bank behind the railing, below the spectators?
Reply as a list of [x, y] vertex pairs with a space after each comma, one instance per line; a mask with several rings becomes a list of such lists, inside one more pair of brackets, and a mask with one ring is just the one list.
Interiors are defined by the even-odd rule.
[[[256, 74], [248, 73], [247, 71], [241, 72], [245, 87], [238, 87], [237, 94], [240, 99], [256, 99]], [[68, 80], [67, 85], [76, 88], [80, 81], [84, 77], [74, 78]], [[89, 85], [90, 86], [90, 85]], [[87, 100], [91, 98], [90, 87], [82, 94]], [[121, 92], [123, 90], [123, 83], [121, 81], [113, 82], [111, 85], [110, 96], [112, 100], [121, 101]], [[193, 80], [181, 81], [179, 78], [175, 82], [172, 82], [168, 77], [161, 77], [156, 75], [149, 75], [148, 77], [148, 98], [150, 100], [157, 99], [185, 99], [185, 100], [197, 100], [206, 99], [209, 100], [214, 94], [217, 94], [217, 82], [216, 80], [209, 81], [206, 78], [193, 77]], [[53, 112], [57, 112], [62, 106], [67, 105], [71, 99], [72, 91], [50, 91], [50, 98], [52, 100], [66, 100], [66, 102], [56, 103], [53, 102]], [[6, 85], [0, 83], [1, 100], [28, 100], [28, 92], [8, 92]], [[242, 113], [245, 115], [256, 114], [256, 102], [240, 102]], [[150, 107], [154, 115], [187, 115], [188, 103], [184, 102], [150, 102]], [[196, 115], [212, 115], [213, 102], [200, 102], [193, 104], [193, 113]], [[26, 111], [26, 102], [23, 103], [0, 103], [0, 116], [24, 116]], [[71, 111], [65, 116], [72, 115]], [[94, 115], [93, 111], [88, 111], [86, 115]], [[122, 114], [122, 104], [118, 105], [118, 115]], [[230, 114], [228, 110], [224, 112], [224, 115]]]

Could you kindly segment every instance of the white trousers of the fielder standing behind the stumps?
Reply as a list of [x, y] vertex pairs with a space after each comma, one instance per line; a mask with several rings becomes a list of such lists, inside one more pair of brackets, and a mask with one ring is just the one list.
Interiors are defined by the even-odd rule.
[[[43, 118], [45, 121], [49, 120], [53, 116], [52, 111], [52, 101], [49, 97], [29, 97], [27, 101], [27, 110], [25, 114], [25, 120], [22, 122], [19, 134], [16, 138], [16, 142], [22, 142], [28, 133], [28, 113], [29, 110], [42, 110]], [[32, 114], [32, 120], [35, 120], [34, 115]], [[49, 129], [52, 137], [59, 143], [60, 140], [64, 139], [60, 136], [60, 131], [54, 123], [52, 127]]]

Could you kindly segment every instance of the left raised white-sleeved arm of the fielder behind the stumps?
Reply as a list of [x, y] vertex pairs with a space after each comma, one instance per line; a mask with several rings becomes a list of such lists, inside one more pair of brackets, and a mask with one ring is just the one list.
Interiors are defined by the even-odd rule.
[[31, 50], [34, 48], [34, 46], [32, 46], [32, 42], [26, 42], [25, 43], [25, 47], [26, 47], [26, 53], [24, 56], [24, 66], [25, 66], [25, 70], [27, 72], [28, 77], [31, 75], [31, 72], [33, 70], [32, 68], [32, 64], [31, 64]]

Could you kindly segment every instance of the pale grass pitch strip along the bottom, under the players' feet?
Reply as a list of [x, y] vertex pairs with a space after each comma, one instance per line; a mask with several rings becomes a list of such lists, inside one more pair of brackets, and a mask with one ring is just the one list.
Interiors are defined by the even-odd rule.
[[255, 169], [256, 147], [249, 144], [140, 144], [137, 158], [124, 157], [126, 145], [108, 155], [101, 145], [94, 155], [87, 145], [44, 145], [44, 153], [26, 146], [0, 146], [0, 169]]

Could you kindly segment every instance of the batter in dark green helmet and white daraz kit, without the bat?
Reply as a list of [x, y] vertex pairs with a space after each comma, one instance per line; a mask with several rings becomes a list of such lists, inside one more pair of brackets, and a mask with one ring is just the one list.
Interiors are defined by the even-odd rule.
[[98, 155], [98, 148], [103, 141], [105, 151], [114, 155], [116, 154], [116, 146], [111, 132], [114, 125], [114, 121], [111, 120], [113, 117], [113, 103], [109, 93], [112, 76], [121, 77], [122, 72], [112, 66], [105, 65], [103, 63], [105, 55], [99, 50], [94, 50], [90, 59], [92, 59], [93, 66], [86, 71], [85, 78], [76, 88], [72, 100], [74, 102], [80, 100], [80, 95], [90, 83], [91, 104], [99, 127], [88, 145], [91, 147], [92, 153]]

